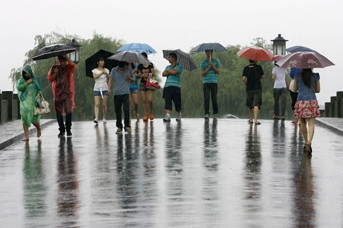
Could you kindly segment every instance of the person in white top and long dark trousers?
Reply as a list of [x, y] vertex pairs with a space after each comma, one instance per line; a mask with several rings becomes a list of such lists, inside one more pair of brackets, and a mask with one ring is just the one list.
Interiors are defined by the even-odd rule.
[[285, 121], [286, 101], [287, 101], [287, 85], [286, 85], [287, 68], [279, 67], [275, 62], [275, 67], [272, 70], [272, 79], [275, 80], [273, 97], [274, 97], [274, 120], [279, 120], [279, 99], [281, 97], [281, 120]]

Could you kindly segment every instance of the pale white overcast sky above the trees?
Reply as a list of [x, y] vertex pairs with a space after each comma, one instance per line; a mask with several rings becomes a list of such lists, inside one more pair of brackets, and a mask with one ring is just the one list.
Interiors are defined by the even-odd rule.
[[[168, 64], [162, 49], [189, 52], [202, 42], [250, 46], [255, 38], [270, 42], [281, 34], [289, 40], [287, 47], [309, 47], [335, 64], [315, 70], [321, 77], [317, 98], [324, 104], [343, 90], [342, 9], [342, 0], [3, 1], [0, 89], [12, 90], [10, 71], [23, 66], [36, 35], [51, 31], [84, 39], [96, 32], [125, 42], [145, 42], [158, 52], [149, 58], [160, 71]], [[270, 72], [265, 76], [271, 80]]]

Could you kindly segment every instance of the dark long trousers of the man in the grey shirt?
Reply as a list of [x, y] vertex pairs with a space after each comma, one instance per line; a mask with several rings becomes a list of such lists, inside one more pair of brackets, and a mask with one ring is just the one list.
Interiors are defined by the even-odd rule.
[[117, 122], [115, 123], [115, 125], [118, 128], [123, 128], [123, 124], [121, 123], [121, 106], [123, 106], [124, 124], [125, 124], [125, 127], [130, 127], [129, 94], [115, 95], [114, 100], [115, 100], [115, 116], [117, 118]]

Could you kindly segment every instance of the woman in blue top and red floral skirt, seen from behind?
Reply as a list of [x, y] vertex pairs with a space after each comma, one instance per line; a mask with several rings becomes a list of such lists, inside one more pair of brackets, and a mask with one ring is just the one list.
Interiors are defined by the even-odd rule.
[[314, 138], [315, 119], [320, 116], [316, 98], [316, 93], [320, 92], [319, 80], [319, 74], [313, 73], [311, 68], [303, 68], [303, 71], [294, 75], [294, 90], [298, 90], [294, 117], [300, 118], [300, 129], [305, 140], [304, 151], [309, 153], [312, 153], [311, 143]]

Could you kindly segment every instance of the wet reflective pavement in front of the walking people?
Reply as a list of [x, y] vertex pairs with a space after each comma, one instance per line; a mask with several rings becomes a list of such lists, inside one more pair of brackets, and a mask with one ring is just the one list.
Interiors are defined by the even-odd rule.
[[1, 227], [342, 227], [343, 134], [289, 121], [57, 123], [0, 151]]

